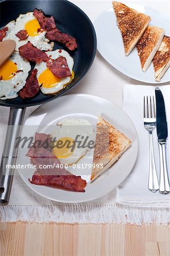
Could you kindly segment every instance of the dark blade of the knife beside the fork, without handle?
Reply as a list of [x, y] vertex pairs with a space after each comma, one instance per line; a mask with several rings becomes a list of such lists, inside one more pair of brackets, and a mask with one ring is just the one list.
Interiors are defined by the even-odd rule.
[[159, 88], [155, 89], [156, 96], [156, 130], [158, 142], [166, 142], [168, 138], [167, 117], [164, 97]]

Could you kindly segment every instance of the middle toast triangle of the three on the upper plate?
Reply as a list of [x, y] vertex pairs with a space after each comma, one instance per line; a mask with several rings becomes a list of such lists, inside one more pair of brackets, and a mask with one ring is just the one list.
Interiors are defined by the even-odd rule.
[[144, 72], [150, 67], [164, 35], [165, 31], [163, 28], [148, 26], [136, 45]]

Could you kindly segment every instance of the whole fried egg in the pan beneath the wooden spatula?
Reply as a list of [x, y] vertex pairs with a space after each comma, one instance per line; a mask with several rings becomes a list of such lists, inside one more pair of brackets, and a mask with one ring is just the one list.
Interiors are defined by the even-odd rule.
[[1, 100], [16, 98], [18, 92], [26, 84], [31, 65], [20, 57], [13, 55], [0, 67], [0, 98]]

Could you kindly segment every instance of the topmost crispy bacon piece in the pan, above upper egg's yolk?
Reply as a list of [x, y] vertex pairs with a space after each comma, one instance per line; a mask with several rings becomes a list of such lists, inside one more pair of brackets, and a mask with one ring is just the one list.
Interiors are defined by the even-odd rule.
[[46, 17], [42, 10], [34, 9], [34, 16], [38, 19], [40, 26], [44, 30], [50, 31], [56, 27], [55, 19], [53, 16], [50, 16], [49, 18]]

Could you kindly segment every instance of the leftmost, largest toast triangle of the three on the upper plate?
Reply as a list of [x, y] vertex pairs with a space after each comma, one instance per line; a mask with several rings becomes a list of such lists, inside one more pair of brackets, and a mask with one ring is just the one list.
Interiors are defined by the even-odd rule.
[[118, 27], [121, 30], [126, 55], [129, 55], [151, 21], [151, 17], [123, 5], [113, 2]]

